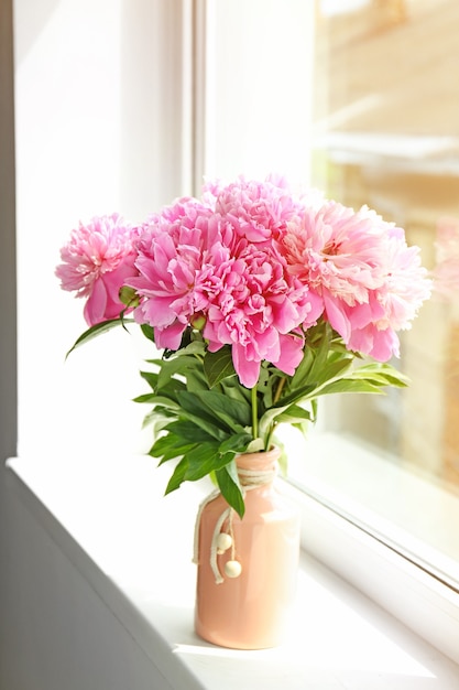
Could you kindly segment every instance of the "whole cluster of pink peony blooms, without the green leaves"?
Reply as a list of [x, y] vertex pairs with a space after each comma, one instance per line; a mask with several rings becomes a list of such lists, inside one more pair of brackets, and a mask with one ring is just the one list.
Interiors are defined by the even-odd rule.
[[281, 177], [205, 186], [141, 228], [118, 215], [72, 234], [56, 274], [86, 297], [89, 325], [139, 299], [138, 323], [160, 348], [178, 349], [189, 326], [208, 349], [230, 345], [240, 381], [252, 388], [263, 360], [293, 375], [305, 332], [323, 316], [346, 346], [385, 362], [429, 295], [417, 248], [365, 206], [357, 213], [321, 194], [292, 192]]

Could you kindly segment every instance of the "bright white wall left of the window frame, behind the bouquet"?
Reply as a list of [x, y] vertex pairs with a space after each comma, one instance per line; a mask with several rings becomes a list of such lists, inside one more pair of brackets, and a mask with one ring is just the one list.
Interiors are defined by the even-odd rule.
[[119, 332], [65, 363], [84, 303], [59, 290], [54, 268], [79, 219], [118, 211], [141, 220], [189, 191], [183, 4], [15, 1], [23, 456], [140, 450], [135, 345]]

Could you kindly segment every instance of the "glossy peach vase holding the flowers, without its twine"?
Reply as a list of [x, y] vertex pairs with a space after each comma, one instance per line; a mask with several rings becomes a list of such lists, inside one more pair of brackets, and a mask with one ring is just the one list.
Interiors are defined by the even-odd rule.
[[[247, 453], [238, 470], [271, 472], [277, 449]], [[242, 478], [241, 478], [241, 483]], [[263, 649], [282, 643], [296, 591], [299, 554], [299, 514], [271, 481], [245, 492], [242, 520], [232, 511], [233, 549], [216, 557], [222, 581], [216, 582], [210, 563], [216, 525], [228, 504], [221, 495], [203, 509], [198, 527], [198, 572], [195, 628], [207, 642], [236, 649]], [[221, 531], [228, 532], [228, 519]], [[234, 560], [239, 576], [227, 576]]]

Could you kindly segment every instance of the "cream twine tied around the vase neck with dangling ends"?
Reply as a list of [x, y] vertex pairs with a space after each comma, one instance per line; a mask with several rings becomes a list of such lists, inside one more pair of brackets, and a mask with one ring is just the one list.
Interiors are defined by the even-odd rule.
[[[245, 498], [247, 492], [250, 492], [255, 488], [261, 488], [262, 486], [271, 484], [274, 481], [275, 474], [276, 474], [275, 466], [270, 467], [269, 470], [266, 468], [249, 470], [245, 467], [238, 467], [238, 476], [239, 476], [239, 482], [242, 487], [243, 498]], [[207, 498], [205, 498], [203, 503], [199, 505], [199, 509], [198, 509], [198, 514], [197, 514], [196, 522], [195, 522], [194, 558], [193, 558], [193, 562], [196, 564], [199, 563], [199, 556], [200, 556], [199, 554], [199, 527], [200, 527], [203, 511], [205, 507], [207, 506], [207, 504], [209, 504], [211, 500], [217, 498], [217, 496], [219, 495], [220, 495], [220, 492], [216, 489], [209, 496], [207, 496]], [[217, 561], [217, 557], [223, 552], [223, 550], [219, 549], [219, 537], [221, 533], [229, 536], [230, 546], [228, 548], [231, 548], [231, 558], [229, 562], [237, 563], [236, 542], [234, 542], [234, 533], [233, 533], [234, 513], [236, 513], [234, 509], [228, 506], [228, 508], [226, 508], [221, 513], [219, 518], [217, 519], [215, 528], [214, 528], [212, 539], [210, 542], [209, 564], [212, 570], [216, 584], [221, 584], [222, 582], [225, 582], [225, 579], [220, 572], [220, 569], [218, 567], [218, 561]], [[222, 532], [225, 522], [228, 522], [227, 530]], [[229, 576], [238, 576], [239, 573], [240, 573], [240, 570], [237, 574], [231, 574]]]

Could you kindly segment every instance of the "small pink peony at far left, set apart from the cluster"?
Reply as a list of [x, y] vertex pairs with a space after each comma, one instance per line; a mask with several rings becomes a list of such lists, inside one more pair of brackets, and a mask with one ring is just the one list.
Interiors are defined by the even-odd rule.
[[63, 290], [87, 298], [84, 316], [92, 326], [116, 319], [124, 309], [120, 288], [134, 276], [138, 228], [127, 225], [118, 214], [92, 218], [72, 231], [62, 248], [63, 263], [56, 268]]

